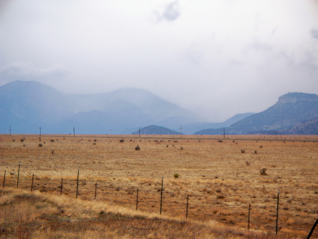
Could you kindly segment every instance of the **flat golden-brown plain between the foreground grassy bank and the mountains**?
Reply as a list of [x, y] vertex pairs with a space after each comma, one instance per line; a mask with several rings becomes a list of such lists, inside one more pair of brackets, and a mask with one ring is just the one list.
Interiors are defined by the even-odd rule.
[[6, 170], [5, 186], [16, 187], [20, 162], [19, 188], [29, 190], [34, 174], [34, 190], [54, 195], [63, 177], [63, 195], [75, 198], [79, 169], [79, 199], [95, 201], [97, 182], [94, 203], [136, 210], [139, 188], [138, 212], [153, 215], [159, 214], [163, 176], [162, 216], [184, 219], [189, 195], [189, 219], [246, 229], [250, 203], [250, 229], [262, 232], [275, 232], [280, 190], [279, 235], [306, 237], [318, 213], [318, 137], [228, 137], [0, 135], [0, 170]]

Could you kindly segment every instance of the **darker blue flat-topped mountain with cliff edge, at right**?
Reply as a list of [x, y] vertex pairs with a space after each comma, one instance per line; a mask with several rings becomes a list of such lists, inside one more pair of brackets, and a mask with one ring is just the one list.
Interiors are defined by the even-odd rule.
[[[318, 95], [288, 93], [263, 112], [248, 116], [225, 128], [227, 134], [318, 134]], [[194, 134], [222, 134], [209, 128]]]

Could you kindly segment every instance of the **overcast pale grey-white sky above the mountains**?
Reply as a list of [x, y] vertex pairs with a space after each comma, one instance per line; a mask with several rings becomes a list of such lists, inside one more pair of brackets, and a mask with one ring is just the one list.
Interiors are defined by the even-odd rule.
[[318, 94], [318, 0], [0, 0], [0, 85], [148, 90], [203, 121]]

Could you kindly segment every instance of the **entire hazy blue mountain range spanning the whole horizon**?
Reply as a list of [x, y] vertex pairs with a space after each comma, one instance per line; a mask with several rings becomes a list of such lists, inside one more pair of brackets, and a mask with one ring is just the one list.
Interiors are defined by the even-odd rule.
[[[41, 127], [42, 133], [65, 134], [75, 127], [76, 134], [109, 134], [110, 129], [113, 134], [130, 134], [156, 124], [174, 132], [182, 125], [185, 134], [221, 134], [224, 127], [227, 134], [318, 134], [315, 94], [288, 93], [261, 113], [239, 114], [219, 123], [200, 122], [192, 112], [133, 88], [80, 95], [34, 81], [15, 81], [0, 86], [0, 102], [0, 133], [8, 133], [10, 125], [11, 133], [38, 133]], [[168, 132], [154, 126], [146, 129]]]

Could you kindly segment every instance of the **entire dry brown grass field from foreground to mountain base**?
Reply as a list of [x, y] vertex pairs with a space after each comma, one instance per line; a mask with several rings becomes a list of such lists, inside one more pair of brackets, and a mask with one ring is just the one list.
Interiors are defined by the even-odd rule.
[[4, 171], [2, 238], [306, 238], [318, 218], [317, 135], [2, 134]]

